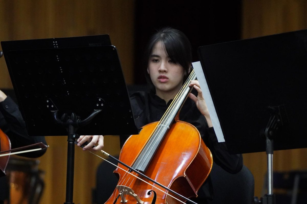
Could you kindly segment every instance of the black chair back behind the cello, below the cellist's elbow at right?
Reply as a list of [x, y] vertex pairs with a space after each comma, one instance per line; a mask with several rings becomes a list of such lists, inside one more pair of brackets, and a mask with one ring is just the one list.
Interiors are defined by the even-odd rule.
[[237, 174], [231, 174], [213, 162], [210, 173], [214, 197], [209, 204], [251, 204], [254, 201], [255, 181], [251, 171], [243, 165]]

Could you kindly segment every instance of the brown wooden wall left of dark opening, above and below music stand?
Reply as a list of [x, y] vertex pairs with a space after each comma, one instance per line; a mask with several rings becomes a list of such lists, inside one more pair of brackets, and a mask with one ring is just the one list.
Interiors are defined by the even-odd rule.
[[[109, 34], [119, 52], [126, 83], [133, 82], [134, 0], [0, 0], [0, 41]], [[1, 47], [0, 47], [1, 50]], [[0, 89], [12, 88], [4, 57]], [[41, 203], [64, 203], [67, 136], [46, 137], [49, 148], [38, 158], [45, 171]], [[119, 153], [117, 136], [105, 137], [105, 150]], [[76, 147], [75, 203], [91, 203], [91, 188], [102, 160]]]

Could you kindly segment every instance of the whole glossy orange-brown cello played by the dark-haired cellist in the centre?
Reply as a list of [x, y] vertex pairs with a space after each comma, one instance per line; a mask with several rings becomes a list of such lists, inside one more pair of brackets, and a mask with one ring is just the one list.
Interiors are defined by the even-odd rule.
[[[213, 162], [212, 154], [198, 130], [178, 117], [181, 106], [192, 90], [188, 84], [195, 79], [192, 70], [161, 120], [143, 126], [139, 135], [131, 135], [119, 155], [123, 163], [186, 198], [197, 197], [197, 191], [208, 177]], [[182, 137], [184, 143], [181, 142]], [[115, 169], [119, 182], [106, 204], [171, 204], [186, 201], [155, 183], [135, 179], [125, 170], [127, 168], [121, 164]], [[138, 173], [134, 175], [142, 177]], [[160, 191], [156, 192], [156, 188]], [[154, 198], [150, 194], [152, 191]]]

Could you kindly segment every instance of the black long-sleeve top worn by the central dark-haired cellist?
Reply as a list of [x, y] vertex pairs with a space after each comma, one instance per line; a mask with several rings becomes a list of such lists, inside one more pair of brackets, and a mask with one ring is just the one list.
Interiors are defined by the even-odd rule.
[[[131, 95], [130, 102], [134, 114], [134, 119], [137, 128], [149, 124], [151, 122], [159, 121], [165, 113], [168, 106], [171, 104], [170, 100], [166, 102], [153, 93], [136, 92]], [[243, 158], [241, 154], [229, 154], [225, 143], [219, 143], [216, 138], [213, 127], [208, 128], [205, 117], [197, 109], [195, 102], [188, 98], [183, 105], [179, 119], [194, 125], [200, 132], [201, 138], [210, 149], [213, 161], [220, 165], [224, 170], [230, 173], [237, 173], [242, 169]], [[127, 136], [121, 135], [121, 147], [126, 141]], [[184, 140], [184, 138], [183, 138]], [[212, 199], [213, 190], [210, 175], [205, 181], [204, 185], [198, 192], [199, 197], [205, 199]]]

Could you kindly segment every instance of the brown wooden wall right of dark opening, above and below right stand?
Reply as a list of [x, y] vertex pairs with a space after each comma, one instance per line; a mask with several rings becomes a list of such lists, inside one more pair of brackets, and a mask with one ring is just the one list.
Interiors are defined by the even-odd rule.
[[[303, 0], [243, 0], [242, 38], [307, 29], [307, 2]], [[307, 170], [307, 149], [274, 152], [274, 171]], [[255, 176], [255, 195], [261, 196], [266, 154], [244, 154], [244, 164]]]

